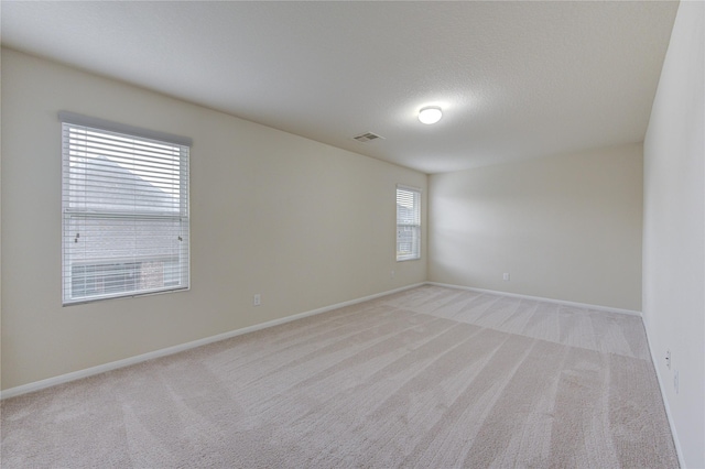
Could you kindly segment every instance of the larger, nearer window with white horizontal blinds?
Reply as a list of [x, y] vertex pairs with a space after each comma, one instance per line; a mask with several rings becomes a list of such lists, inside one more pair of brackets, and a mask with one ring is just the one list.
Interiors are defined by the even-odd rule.
[[191, 140], [59, 119], [64, 304], [188, 288]]

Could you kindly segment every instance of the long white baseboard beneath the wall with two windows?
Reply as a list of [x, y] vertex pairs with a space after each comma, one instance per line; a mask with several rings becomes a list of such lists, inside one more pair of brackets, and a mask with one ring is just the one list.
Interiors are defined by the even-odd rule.
[[377, 293], [375, 295], [365, 296], [361, 298], [350, 299], [348, 302], [338, 303], [330, 306], [325, 306], [317, 309], [312, 309], [310, 312], [299, 313], [293, 316], [282, 317], [280, 319], [269, 320], [267, 323], [256, 324], [254, 326], [243, 327], [241, 329], [231, 330], [229, 332], [218, 334], [216, 336], [205, 337], [203, 339], [194, 340], [186, 343], [181, 343], [173, 347], [166, 347], [164, 349], [154, 350], [148, 353], [138, 355], [135, 357], [126, 358], [123, 360], [111, 361], [109, 363], [99, 364], [97, 367], [86, 368], [85, 370], [74, 371], [72, 373], [62, 374], [54, 378], [48, 378], [46, 380], [35, 381], [33, 383], [23, 384], [17, 388], [10, 388], [0, 393], [0, 400], [15, 397], [18, 395], [28, 394], [35, 391], [41, 391], [46, 388], [52, 388], [58, 384], [68, 383], [70, 381], [80, 380], [83, 378], [93, 377], [95, 374], [105, 373], [106, 371], [117, 370], [119, 368], [129, 367], [131, 364], [141, 363], [147, 360], [152, 360], [155, 358], [166, 357], [170, 355], [178, 353], [181, 351], [189, 350], [196, 347], [205, 346], [208, 343], [217, 342], [219, 340], [229, 339], [231, 337], [241, 336], [243, 334], [253, 332], [256, 330], [265, 329], [268, 327], [279, 326], [280, 324], [291, 323], [292, 320], [301, 319], [308, 316], [314, 316], [322, 313], [327, 313], [333, 309], [341, 308], [345, 306], [355, 305], [357, 303], [367, 302], [370, 299], [379, 298], [381, 296], [391, 295], [392, 293], [403, 292], [404, 290], [414, 288], [416, 286], [421, 286], [423, 283], [417, 283], [413, 285], [406, 285], [399, 288], [390, 290], [382, 293]]

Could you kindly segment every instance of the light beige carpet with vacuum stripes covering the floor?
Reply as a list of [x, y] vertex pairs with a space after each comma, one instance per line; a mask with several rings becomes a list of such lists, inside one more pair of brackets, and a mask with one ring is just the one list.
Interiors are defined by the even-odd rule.
[[7, 400], [2, 467], [674, 468], [641, 319], [422, 286]]

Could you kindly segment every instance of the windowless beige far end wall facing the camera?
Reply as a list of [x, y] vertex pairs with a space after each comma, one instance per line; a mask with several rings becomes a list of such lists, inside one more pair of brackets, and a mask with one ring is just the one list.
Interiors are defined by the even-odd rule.
[[436, 174], [429, 193], [431, 281], [641, 310], [641, 145]]

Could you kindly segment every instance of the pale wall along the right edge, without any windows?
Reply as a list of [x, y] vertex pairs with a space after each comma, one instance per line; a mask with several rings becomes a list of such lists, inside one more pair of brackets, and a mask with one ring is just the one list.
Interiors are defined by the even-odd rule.
[[644, 140], [643, 319], [690, 468], [705, 467], [704, 57], [705, 3], [682, 1]]

